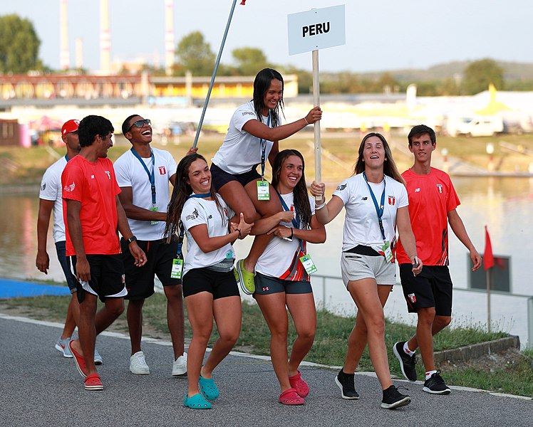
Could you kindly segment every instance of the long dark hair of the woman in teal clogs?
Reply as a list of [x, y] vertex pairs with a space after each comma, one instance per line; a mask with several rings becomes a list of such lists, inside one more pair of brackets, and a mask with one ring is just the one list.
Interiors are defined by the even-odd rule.
[[[183, 206], [185, 205], [185, 201], [187, 201], [192, 194], [192, 187], [189, 183], [189, 168], [192, 162], [195, 162], [198, 159], [202, 159], [205, 164], [207, 164], [205, 157], [201, 154], [190, 154], [189, 156], [185, 156], [180, 160], [180, 163], [177, 164], [175, 186], [172, 190], [172, 196], [170, 196], [170, 203], [168, 204], [167, 209], [167, 223], [164, 233], [165, 238], [175, 236], [175, 234], [179, 233], [180, 227], [182, 226], [181, 216]], [[217, 204], [220, 218], [222, 219], [222, 223], [224, 223], [224, 209], [219, 202], [216, 191], [214, 191], [213, 184], [211, 184], [209, 192], [214, 203]]]

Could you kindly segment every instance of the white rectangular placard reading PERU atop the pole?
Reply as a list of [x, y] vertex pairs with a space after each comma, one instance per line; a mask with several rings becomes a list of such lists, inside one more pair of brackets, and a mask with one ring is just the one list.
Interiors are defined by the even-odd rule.
[[344, 5], [287, 15], [289, 55], [346, 44]]

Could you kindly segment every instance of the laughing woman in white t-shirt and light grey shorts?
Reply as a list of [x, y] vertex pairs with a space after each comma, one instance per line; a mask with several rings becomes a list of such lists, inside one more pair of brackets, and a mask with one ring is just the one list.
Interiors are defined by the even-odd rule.
[[353, 373], [368, 342], [371, 361], [383, 389], [381, 407], [405, 406], [410, 403], [410, 397], [400, 394], [390, 379], [383, 316], [383, 305], [396, 283], [393, 254], [396, 226], [404, 247], [407, 244], [405, 251], [410, 254], [413, 274], [420, 273], [422, 262], [416, 255], [404, 181], [383, 135], [370, 133], [363, 138], [355, 174], [341, 182], [328, 204], [324, 189], [324, 184], [311, 184], [311, 194], [322, 196], [322, 201], [315, 206], [316, 218], [326, 224], [343, 206], [346, 209], [341, 273], [358, 308], [343, 369], [335, 382], [343, 399], [359, 399]]

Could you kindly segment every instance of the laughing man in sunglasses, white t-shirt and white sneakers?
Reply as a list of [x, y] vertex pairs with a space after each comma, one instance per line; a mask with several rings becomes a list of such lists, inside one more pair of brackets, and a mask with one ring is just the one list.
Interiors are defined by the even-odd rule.
[[[148, 258], [143, 268], [135, 268], [133, 257], [124, 250], [128, 243], [121, 241], [128, 285], [130, 371], [133, 374], [150, 374], [150, 367], [141, 349], [143, 305], [145, 299], [154, 293], [154, 278], [157, 275], [167, 297], [167, 323], [174, 350], [172, 376], [185, 376], [187, 354], [184, 347], [182, 285], [180, 279], [170, 277], [172, 260], [177, 252], [177, 239], [167, 243], [163, 235], [170, 201], [168, 183], [170, 181], [174, 185], [177, 165], [172, 154], [150, 147], [152, 126], [149, 119], [130, 115], [123, 122], [122, 132], [132, 147], [115, 162], [115, 173], [121, 189], [119, 198], [130, 228]], [[190, 149], [187, 154], [196, 151]]]

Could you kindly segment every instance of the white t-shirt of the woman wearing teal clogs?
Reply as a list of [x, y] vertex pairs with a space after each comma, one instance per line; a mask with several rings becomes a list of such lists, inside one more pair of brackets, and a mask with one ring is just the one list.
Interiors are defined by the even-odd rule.
[[183, 205], [181, 220], [187, 237], [187, 255], [183, 264], [183, 276], [192, 268], [210, 267], [222, 260], [235, 258], [233, 246], [230, 243], [216, 251], [202, 252], [202, 249], [197, 245], [189, 231], [194, 226], [207, 224], [209, 237], [225, 236], [228, 233], [229, 218], [232, 218], [235, 214], [222, 200], [222, 197], [218, 194], [217, 197], [222, 209], [224, 209], [224, 218], [220, 215], [214, 200], [192, 198], [187, 199]]

